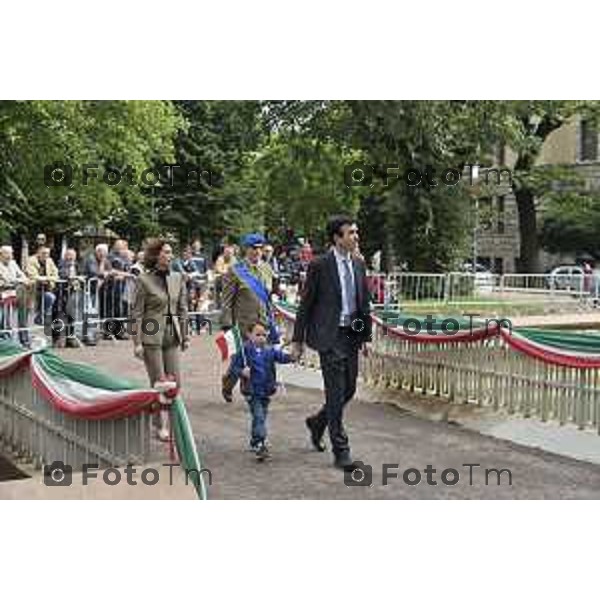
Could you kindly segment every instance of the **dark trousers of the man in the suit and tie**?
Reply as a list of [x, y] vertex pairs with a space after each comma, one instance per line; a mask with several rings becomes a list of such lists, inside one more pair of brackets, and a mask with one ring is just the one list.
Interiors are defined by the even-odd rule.
[[312, 417], [317, 431], [322, 434], [329, 426], [329, 438], [335, 456], [350, 452], [348, 436], [344, 430], [344, 407], [354, 396], [358, 376], [358, 345], [348, 327], [340, 327], [333, 347], [319, 352], [321, 372], [325, 385], [325, 404]]

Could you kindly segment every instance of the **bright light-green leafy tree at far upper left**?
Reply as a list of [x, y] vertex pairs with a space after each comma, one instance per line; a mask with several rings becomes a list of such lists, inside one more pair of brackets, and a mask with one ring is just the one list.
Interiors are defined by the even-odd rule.
[[[106, 219], [121, 206], [121, 194], [143, 199], [140, 187], [102, 182], [104, 166], [140, 174], [157, 157], [173, 158], [172, 139], [184, 120], [170, 102], [0, 102], [2, 218], [16, 233], [64, 232]], [[73, 183], [47, 187], [45, 168], [68, 165]], [[99, 165], [98, 179], [83, 185], [84, 165]]]

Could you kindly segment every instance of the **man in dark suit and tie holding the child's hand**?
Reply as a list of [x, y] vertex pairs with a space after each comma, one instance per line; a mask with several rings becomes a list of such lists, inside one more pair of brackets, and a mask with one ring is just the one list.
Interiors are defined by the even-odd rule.
[[343, 411], [356, 391], [358, 352], [371, 339], [369, 292], [363, 261], [355, 258], [358, 227], [351, 217], [335, 216], [327, 224], [329, 252], [308, 268], [292, 338], [299, 358], [304, 343], [319, 352], [325, 404], [306, 419], [313, 446], [323, 452], [329, 428], [334, 464], [353, 470]]

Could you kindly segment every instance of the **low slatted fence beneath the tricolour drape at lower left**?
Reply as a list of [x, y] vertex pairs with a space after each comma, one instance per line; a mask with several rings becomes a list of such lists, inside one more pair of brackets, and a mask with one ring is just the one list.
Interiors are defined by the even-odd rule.
[[40, 468], [62, 461], [74, 470], [143, 464], [150, 455], [151, 415], [89, 420], [56, 410], [31, 384], [24, 367], [0, 378], [0, 446]]

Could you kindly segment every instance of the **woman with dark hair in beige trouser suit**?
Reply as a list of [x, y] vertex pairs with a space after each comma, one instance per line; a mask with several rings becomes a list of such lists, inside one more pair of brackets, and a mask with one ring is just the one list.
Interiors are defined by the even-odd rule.
[[[179, 377], [179, 353], [189, 346], [187, 288], [181, 273], [170, 271], [173, 250], [164, 240], [150, 240], [144, 253], [145, 272], [136, 279], [132, 318], [134, 355], [143, 359], [154, 385], [163, 375]], [[169, 437], [161, 412], [158, 437]]]

